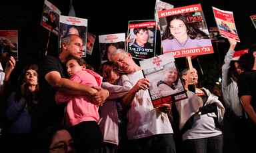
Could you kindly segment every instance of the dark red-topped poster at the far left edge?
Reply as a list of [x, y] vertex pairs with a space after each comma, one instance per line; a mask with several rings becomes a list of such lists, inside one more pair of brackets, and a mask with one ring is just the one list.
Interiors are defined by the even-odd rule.
[[0, 61], [9, 61], [11, 56], [18, 61], [18, 31], [0, 30]]

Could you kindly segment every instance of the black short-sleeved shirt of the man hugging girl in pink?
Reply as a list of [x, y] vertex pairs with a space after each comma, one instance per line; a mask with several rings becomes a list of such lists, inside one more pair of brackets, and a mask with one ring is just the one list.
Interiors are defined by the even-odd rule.
[[45, 80], [45, 75], [51, 71], [57, 71], [61, 78], [67, 78], [65, 65], [61, 63], [59, 57], [47, 55], [39, 66], [39, 129], [43, 130], [48, 126], [61, 123], [64, 115], [65, 104], [57, 105], [55, 93], [57, 90]]

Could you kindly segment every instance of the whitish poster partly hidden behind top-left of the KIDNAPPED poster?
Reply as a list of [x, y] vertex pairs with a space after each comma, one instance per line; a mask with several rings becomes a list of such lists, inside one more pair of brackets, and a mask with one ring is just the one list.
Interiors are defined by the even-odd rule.
[[173, 5], [159, 0], [155, 2], [155, 21], [157, 21], [157, 30], [160, 30], [158, 12], [166, 9], [173, 9]]

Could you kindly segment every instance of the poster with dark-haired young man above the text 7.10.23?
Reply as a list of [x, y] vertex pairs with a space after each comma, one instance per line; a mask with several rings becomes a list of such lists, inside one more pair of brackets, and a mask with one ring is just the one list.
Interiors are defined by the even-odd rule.
[[132, 41], [127, 45], [127, 52], [134, 59], [155, 57], [155, 20], [129, 21], [128, 33]]

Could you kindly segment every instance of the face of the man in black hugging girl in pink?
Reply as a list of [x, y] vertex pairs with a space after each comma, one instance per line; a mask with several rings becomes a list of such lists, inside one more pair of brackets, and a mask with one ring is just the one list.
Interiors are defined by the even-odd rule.
[[73, 41], [71, 43], [66, 44], [63, 43], [63, 48], [66, 50], [66, 53], [69, 54], [69, 57], [79, 57], [83, 55], [83, 41], [78, 36], [72, 36]]

